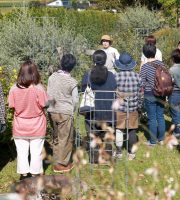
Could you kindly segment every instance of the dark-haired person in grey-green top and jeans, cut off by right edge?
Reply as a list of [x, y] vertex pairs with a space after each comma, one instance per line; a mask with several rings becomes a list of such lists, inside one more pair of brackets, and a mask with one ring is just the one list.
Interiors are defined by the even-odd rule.
[[175, 49], [171, 54], [173, 66], [169, 69], [173, 80], [173, 93], [169, 97], [172, 123], [175, 124], [174, 135], [180, 137], [180, 49]]

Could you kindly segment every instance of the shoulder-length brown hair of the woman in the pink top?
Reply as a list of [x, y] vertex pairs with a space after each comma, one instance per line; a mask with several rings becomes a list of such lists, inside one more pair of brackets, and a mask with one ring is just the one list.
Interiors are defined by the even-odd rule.
[[28, 88], [31, 84], [37, 85], [40, 82], [40, 75], [37, 66], [31, 60], [22, 63], [17, 78], [17, 86]]

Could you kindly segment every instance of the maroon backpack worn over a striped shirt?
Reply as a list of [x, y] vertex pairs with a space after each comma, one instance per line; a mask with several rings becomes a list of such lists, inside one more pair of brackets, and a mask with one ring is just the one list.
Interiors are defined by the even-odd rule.
[[168, 69], [158, 64], [152, 63], [152, 65], [156, 68], [153, 88], [154, 95], [161, 97], [171, 95], [173, 91], [173, 81]]

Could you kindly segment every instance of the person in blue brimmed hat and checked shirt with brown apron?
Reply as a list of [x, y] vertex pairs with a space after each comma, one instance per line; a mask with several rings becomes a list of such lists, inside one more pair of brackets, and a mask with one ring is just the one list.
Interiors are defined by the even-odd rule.
[[[117, 150], [114, 152], [114, 157], [122, 157], [123, 140], [126, 140], [127, 136], [125, 133], [128, 132], [129, 139], [127, 150], [129, 160], [132, 160], [135, 158], [135, 152], [132, 152], [132, 147], [137, 142], [136, 129], [138, 128], [138, 110], [142, 107], [142, 82], [139, 74], [133, 71], [136, 66], [136, 61], [133, 60], [130, 54], [126, 52], [122, 53], [119, 59], [115, 61], [115, 64], [120, 71], [116, 74], [116, 105], [112, 105], [112, 108], [117, 111]], [[128, 119], [127, 113], [129, 113]]]

